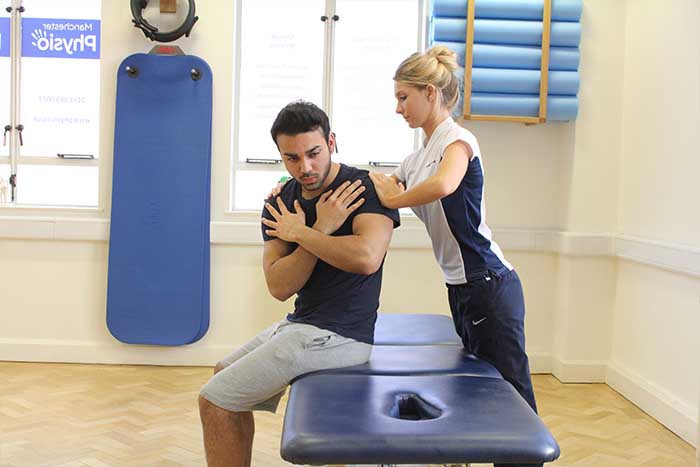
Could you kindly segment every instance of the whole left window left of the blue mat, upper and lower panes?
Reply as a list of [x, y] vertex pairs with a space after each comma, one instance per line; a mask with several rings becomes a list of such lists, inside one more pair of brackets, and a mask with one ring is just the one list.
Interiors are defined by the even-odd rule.
[[[21, 82], [11, 92], [19, 103], [14, 121], [23, 127], [15, 131], [22, 144], [14, 154], [0, 153], [10, 156], [0, 164], [17, 164], [17, 205], [96, 206], [100, 2], [24, 0], [22, 5], [22, 56], [11, 57], [21, 69]], [[0, 72], [9, 77], [9, 60], [2, 63]], [[10, 100], [0, 97], [3, 115]]]

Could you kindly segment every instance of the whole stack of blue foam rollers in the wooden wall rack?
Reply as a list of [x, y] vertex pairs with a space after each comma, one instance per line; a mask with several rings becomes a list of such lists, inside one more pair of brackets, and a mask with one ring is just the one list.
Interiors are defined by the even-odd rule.
[[[540, 105], [543, 0], [432, 0], [430, 45], [465, 66], [467, 12], [475, 1], [471, 113], [536, 117]], [[576, 119], [582, 0], [551, 0], [547, 121]], [[460, 69], [464, 76], [464, 68]], [[456, 112], [463, 109], [463, 93]]]

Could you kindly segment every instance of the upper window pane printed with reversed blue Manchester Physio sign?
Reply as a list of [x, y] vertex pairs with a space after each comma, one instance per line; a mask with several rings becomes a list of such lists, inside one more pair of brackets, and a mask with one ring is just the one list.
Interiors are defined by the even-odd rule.
[[[74, 7], [66, 16], [85, 13]], [[24, 156], [98, 157], [99, 58], [99, 19], [22, 18]]]

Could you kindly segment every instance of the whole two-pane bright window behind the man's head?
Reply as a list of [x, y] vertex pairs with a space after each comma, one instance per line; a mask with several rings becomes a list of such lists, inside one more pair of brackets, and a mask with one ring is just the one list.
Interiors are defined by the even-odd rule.
[[[394, 112], [392, 77], [401, 60], [422, 46], [423, 8], [423, 0], [239, 2], [233, 209], [259, 210], [286, 175], [270, 126], [296, 99], [329, 114], [340, 148], [335, 161], [368, 168], [370, 162], [397, 163], [414, 151], [417, 132]], [[321, 21], [324, 14], [339, 20]]]

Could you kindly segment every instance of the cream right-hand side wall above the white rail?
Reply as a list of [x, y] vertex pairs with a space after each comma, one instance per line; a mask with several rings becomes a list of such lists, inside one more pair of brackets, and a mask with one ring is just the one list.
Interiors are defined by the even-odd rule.
[[700, 248], [700, 3], [627, 10], [619, 231]]

